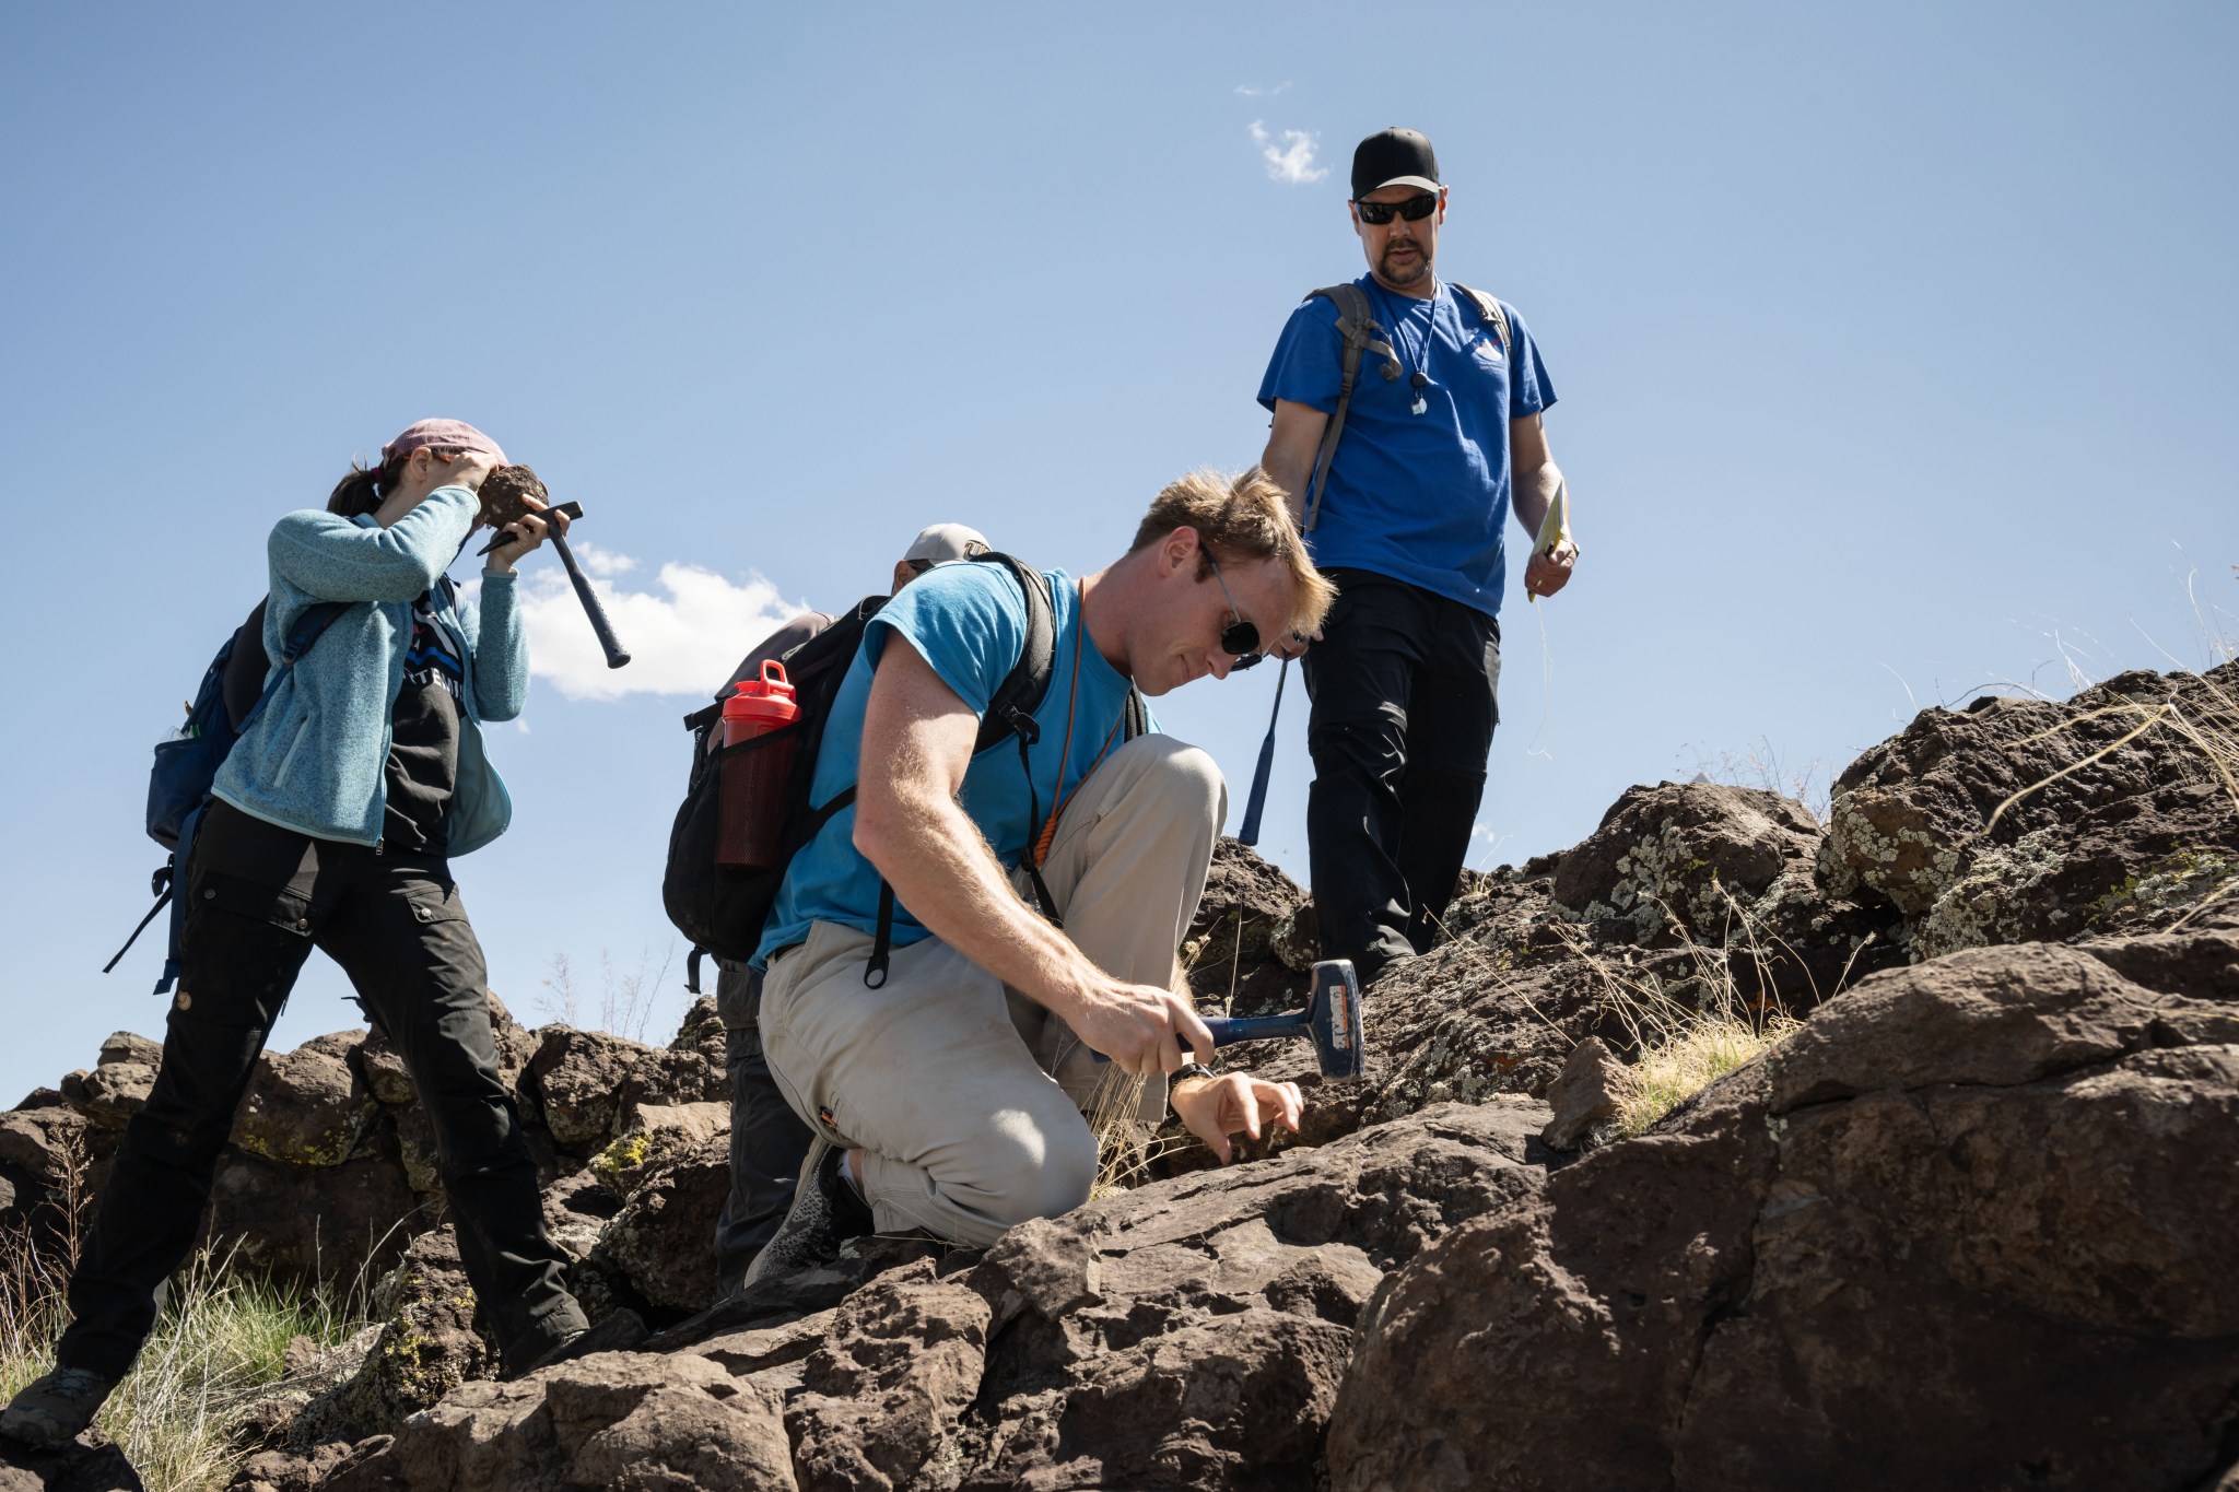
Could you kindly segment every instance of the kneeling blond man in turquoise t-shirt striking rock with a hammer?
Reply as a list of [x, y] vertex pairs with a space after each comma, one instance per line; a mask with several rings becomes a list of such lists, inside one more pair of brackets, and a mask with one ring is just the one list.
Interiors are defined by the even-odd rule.
[[[1149, 1078], [1144, 1118], [1182, 1074], [1173, 1109], [1222, 1159], [1229, 1134], [1296, 1130], [1294, 1085], [1184, 1071], [1211, 1036], [1175, 948], [1227, 787], [1211, 756], [1131, 734], [1128, 714], [1133, 691], [1312, 635], [1334, 591], [1258, 470], [1175, 481], [1122, 559], [1046, 579], [1052, 671], [1023, 763], [1010, 736], [974, 754], [1025, 649], [1001, 564], [940, 566], [891, 599], [833, 702], [813, 801], [855, 796], [793, 859], [757, 955], [763, 1049], [817, 1143], [750, 1282], [873, 1230], [985, 1246], [1088, 1201], [1093, 1054]], [[1039, 877], [1057, 922], [1014, 877]]]

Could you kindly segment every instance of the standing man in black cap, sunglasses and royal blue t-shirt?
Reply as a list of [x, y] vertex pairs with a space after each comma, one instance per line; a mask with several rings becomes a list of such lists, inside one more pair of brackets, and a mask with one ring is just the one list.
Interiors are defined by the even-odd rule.
[[[1431, 141], [1397, 128], [1364, 139], [1346, 210], [1375, 327], [1319, 494], [1346, 286], [1292, 311], [1258, 400], [1274, 412], [1263, 465], [1339, 586], [1303, 664], [1305, 834], [1321, 953], [1350, 957], [1368, 984], [1426, 951], [1453, 899], [1500, 720], [1502, 530], [1514, 508], [1536, 535], [1563, 474], [1540, 429], [1554, 389], [1523, 318], [1433, 268], [1446, 186]], [[1554, 595], [1576, 557], [1565, 530], [1531, 555], [1525, 591]]]

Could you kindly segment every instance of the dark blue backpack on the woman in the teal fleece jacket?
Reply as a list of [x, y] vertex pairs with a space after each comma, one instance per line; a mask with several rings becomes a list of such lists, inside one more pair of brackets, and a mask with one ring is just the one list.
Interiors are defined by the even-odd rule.
[[[448, 577], [443, 586], [450, 586]], [[318, 602], [305, 608], [282, 644], [280, 664], [273, 667], [264, 653], [266, 602], [257, 602], [249, 620], [217, 649], [210, 667], [202, 673], [202, 687], [195, 689], [195, 702], [186, 707], [186, 723], [170, 740], [157, 743], [154, 765], [148, 769], [148, 839], [170, 850], [170, 859], [157, 866], [148, 879], [154, 906], [132, 928], [132, 937], [116, 951], [116, 957], [101, 966], [101, 973], [116, 969], [116, 962], [139, 942], [157, 913], [170, 906], [170, 948], [163, 957], [163, 973], [154, 982], [159, 995], [170, 993], [179, 978], [179, 901], [175, 893], [186, 872], [186, 857], [195, 848], [195, 825], [202, 823], [202, 812], [210, 805], [210, 783], [217, 781], [217, 767], [273, 698], [287, 671], [352, 606], [352, 602]]]

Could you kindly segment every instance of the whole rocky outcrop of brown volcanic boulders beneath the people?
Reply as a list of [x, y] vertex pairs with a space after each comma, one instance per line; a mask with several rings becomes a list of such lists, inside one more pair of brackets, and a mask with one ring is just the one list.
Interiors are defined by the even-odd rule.
[[[213, 1239], [298, 1273], [305, 1221], [343, 1257], [378, 1217], [412, 1241], [376, 1331], [244, 1414], [237, 1485], [2214, 1488], [2235, 687], [1928, 711], [1825, 828], [1767, 792], [1628, 790], [1574, 850], [1464, 875], [1442, 942], [1366, 991], [1366, 1080], [1225, 1049], [1301, 1080], [1301, 1134], [1216, 1168], [1169, 1125], [1122, 1190], [985, 1253], [862, 1239], [721, 1304], [712, 1004], [658, 1049], [502, 1018], [571, 1286], [658, 1329], [522, 1382], [493, 1382], [450, 1235], [421, 1233], [403, 1065], [320, 1038], [260, 1069]], [[1222, 841], [1182, 948], [1200, 1004], [1294, 1009], [1314, 939]], [[1802, 1020], [1769, 1056], [1621, 1139], [1646, 1047], [1773, 1013]], [[0, 1224], [99, 1174], [154, 1060], [116, 1038], [0, 1116]]]

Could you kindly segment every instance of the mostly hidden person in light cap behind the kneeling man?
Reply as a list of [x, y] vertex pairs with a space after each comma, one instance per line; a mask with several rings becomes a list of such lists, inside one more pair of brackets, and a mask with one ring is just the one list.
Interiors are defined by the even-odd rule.
[[[987, 550], [981, 530], [963, 523], [934, 523], [893, 561], [893, 586], [887, 595], [900, 595], [902, 586], [936, 564], [969, 559]], [[746, 655], [716, 698], [728, 698], [730, 687], [739, 680], [761, 678], [763, 660], [784, 658], [831, 624], [833, 617], [822, 611], [804, 611], [793, 617]], [[710, 736], [710, 749], [721, 738], [721, 734]], [[723, 1212], [714, 1219], [716, 1300], [723, 1300], [746, 1282], [755, 1255], [786, 1219], [786, 1208], [793, 1206], [793, 1179], [802, 1170], [815, 1132], [786, 1107], [786, 1096], [777, 1092], [770, 1063], [761, 1054], [761, 975], [732, 960], [716, 960], [716, 964], [714, 1007], [723, 1018], [723, 1067], [730, 1076], [730, 1197], [723, 1199]]]

